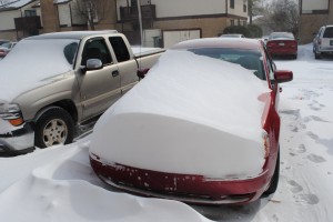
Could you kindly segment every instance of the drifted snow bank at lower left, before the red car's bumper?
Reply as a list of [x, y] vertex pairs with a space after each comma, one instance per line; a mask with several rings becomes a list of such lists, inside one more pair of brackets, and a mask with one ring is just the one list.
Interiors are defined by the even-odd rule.
[[87, 144], [57, 149], [68, 155], [37, 168], [0, 193], [1, 221], [209, 221], [181, 202], [135, 198], [94, 185]]

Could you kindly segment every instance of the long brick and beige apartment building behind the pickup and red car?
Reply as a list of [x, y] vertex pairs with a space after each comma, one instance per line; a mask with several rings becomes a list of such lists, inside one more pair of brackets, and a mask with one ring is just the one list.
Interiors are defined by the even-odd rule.
[[[68, 30], [117, 29], [131, 43], [170, 47], [175, 42], [220, 36], [229, 26], [245, 26], [248, 0], [94, 0], [103, 6], [89, 22], [80, 0], [7, 0], [0, 6], [0, 38]], [[138, 2], [142, 22], [139, 22]], [[90, 11], [90, 10], [87, 10]], [[140, 28], [143, 39], [140, 39]]]

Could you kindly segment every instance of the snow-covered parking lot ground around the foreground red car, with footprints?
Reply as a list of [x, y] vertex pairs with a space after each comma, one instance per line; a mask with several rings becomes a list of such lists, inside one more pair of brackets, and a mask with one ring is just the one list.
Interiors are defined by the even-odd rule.
[[[281, 175], [276, 193], [244, 206], [194, 206], [114, 192], [89, 164], [90, 135], [77, 143], [0, 158], [1, 221], [333, 221], [333, 63], [276, 60], [294, 72], [282, 84]], [[204, 218], [203, 215], [210, 219]]]

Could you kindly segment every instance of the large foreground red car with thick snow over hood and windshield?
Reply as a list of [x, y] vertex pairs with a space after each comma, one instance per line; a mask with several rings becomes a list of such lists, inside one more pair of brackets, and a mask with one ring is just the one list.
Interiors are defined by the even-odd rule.
[[281, 82], [263, 42], [189, 40], [97, 122], [90, 162], [118, 189], [189, 203], [248, 203], [275, 192]]

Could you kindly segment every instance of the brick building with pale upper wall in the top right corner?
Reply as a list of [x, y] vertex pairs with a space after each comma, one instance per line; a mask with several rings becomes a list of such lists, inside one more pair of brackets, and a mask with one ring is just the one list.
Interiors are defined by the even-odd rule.
[[300, 42], [312, 42], [322, 26], [333, 24], [333, 0], [299, 0]]

